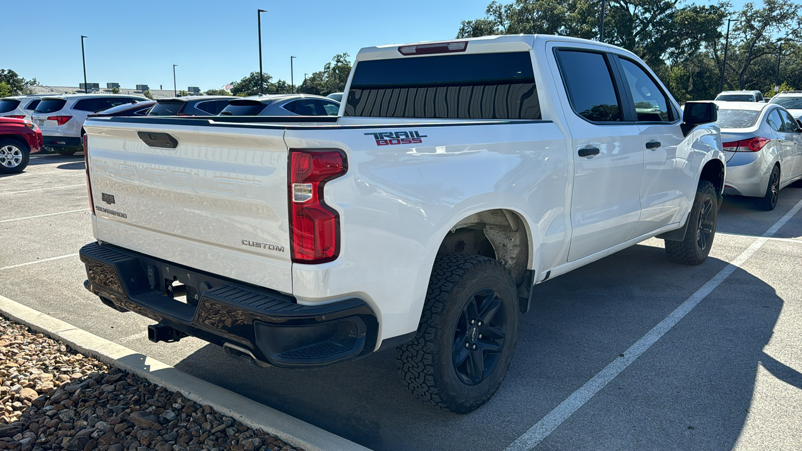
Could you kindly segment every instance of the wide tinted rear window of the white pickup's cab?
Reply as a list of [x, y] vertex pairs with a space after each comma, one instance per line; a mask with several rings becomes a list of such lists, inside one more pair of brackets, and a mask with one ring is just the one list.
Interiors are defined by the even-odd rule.
[[541, 119], [529, 52], [357, 63], [345, 116]]

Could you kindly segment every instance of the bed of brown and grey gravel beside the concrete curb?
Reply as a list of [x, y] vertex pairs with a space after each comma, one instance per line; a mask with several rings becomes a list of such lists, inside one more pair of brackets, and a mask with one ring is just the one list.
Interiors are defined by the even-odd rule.
[[2, 317], [0, 400], [0, 449], [295, 450]]

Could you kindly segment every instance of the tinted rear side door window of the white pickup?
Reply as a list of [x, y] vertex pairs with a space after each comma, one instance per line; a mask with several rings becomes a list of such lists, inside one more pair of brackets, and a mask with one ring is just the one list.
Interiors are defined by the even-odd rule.
[[621, 100], [605, 55], [586, 51], [557, 54], [573, 111], [593, 122], [622, 121]]

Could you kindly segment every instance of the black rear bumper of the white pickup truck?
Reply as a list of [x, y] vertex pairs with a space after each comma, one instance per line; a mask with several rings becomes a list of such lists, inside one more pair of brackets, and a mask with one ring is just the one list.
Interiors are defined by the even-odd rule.
[[[80, 258], [87, 290], [103, 303], [256, 364], [319, 367], [375, 348], [378, 321], [361, 299], [303, 306], [289, 295], [99, 243], [83, 246]], [[171, 287], [174, 280], [183, 285]]]

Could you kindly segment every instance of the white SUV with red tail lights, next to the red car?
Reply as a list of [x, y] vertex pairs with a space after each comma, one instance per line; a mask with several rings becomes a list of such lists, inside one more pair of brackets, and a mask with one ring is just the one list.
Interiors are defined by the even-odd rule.
[[31, 120], [42, 129], [47, 150], [72, 155], [83, 150], [83, 121], [89, 113], [148, 100], [139, 95], [68, 94], [43, 97]]

